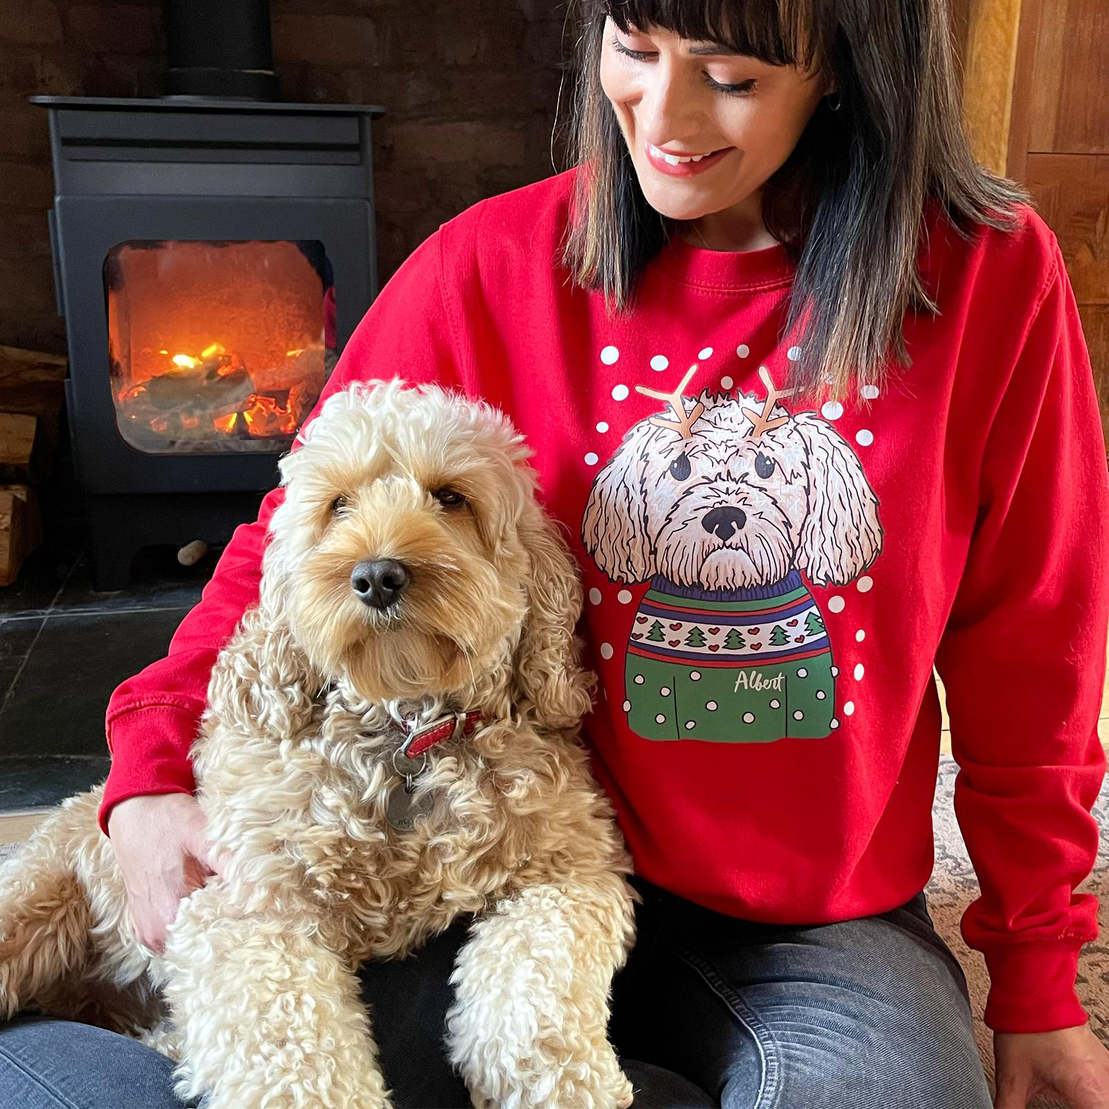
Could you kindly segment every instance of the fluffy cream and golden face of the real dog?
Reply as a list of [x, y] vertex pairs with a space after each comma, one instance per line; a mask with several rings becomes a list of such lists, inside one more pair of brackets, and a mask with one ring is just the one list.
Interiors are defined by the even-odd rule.
[[[529, 455], [499, 413], [434, 386], [328, 398], [282, 459], [264, 563], [264, 593], [313, 669], [374, 701], [472, 690], [513, 652], [526, 668], [551, 621], [573, 676], [580, 589], [550, 546]], [[537, 614], [543, 573], [562, 592]]]

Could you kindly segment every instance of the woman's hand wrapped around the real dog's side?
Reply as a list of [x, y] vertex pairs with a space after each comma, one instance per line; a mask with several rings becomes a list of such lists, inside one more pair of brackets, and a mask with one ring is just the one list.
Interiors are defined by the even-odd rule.
[[215, 873], [205, 838], [207, 822], [191, 793], [152, 793], [112, 806], [108, 833], [128, 887], [139, 939], [153, 952], [183, 897]]

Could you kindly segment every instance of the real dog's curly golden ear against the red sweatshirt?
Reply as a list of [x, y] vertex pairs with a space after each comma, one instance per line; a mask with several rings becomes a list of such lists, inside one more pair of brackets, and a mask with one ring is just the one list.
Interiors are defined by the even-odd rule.
[[518, 702], [529, 702], [548, 728], [571, 728], [592, 704], [597, 675], [581, 667], [574, 625], [581, 614], [581, 582], [566, 541], [538, 503], [517, 525], [528, 554], [528, 613], [513, 657]]

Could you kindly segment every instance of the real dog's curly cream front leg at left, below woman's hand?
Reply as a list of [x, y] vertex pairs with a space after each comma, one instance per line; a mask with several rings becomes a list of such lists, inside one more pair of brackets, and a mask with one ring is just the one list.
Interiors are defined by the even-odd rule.
[[357, 978], [311, 915], [235, 914], [213, 879], [170, 932], [177, 1096], [206, 1095], [205, 1109], [388, 1109]]

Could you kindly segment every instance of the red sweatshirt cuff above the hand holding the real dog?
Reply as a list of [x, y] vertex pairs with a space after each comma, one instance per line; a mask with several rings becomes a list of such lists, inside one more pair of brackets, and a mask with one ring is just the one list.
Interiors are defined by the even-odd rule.
[[[112, 806], [128, 797], [195, 791], [189, 759], [195, 728], [196, 714], [172, 704], [143, 705], [112, 719], [108, 725], [112, 766], [98, 814], [104, 835]], [[184, 747], [182, 736], [189, 737]]]

